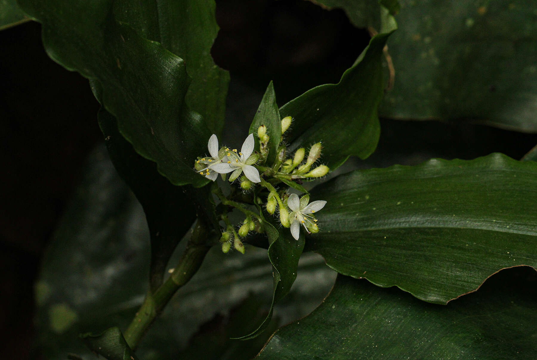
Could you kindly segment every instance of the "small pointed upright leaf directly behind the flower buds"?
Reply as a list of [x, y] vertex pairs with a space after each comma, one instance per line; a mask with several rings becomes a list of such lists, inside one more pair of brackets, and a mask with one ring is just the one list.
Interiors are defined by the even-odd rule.
[[[261, 104], [259, 104], [256, 115], [253, 116], [253, 121], [250, 125], [250, 134], [255, 134], [255, 137], [258, 138], [257, 129], [262, 125], [266, 126], [266, 133], [270, 137], [267, 162], [272, 164], [278, 155], [278, 145], [280, 144], [281, 139], [280, 112], [278, 111], [278, 104], [276, 104], [276, 94], [274, 93], [272, 81], [269, 83], [269, 86], [267, 86], [267, 90], [263, 95], [263, 99], [261, 99]], [[256, 150], [259, 150], [258, 141], [256, 141]]]

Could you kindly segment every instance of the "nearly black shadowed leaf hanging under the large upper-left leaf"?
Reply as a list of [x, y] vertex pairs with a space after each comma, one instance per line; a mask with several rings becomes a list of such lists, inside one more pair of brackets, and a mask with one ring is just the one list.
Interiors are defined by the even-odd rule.
[[[204, 192], [172, 185], [157, 172], [153, 161], [138, 155], [121, 136], [114, 116], [101, 109], [98, 119], [115, 169], [133, 190], [146, 214], [151, 237], [150, 284], [151, 290], [155, 290], [162, 284], [166, 264], [193, 224], [196, 212], [200, 211], [202, 216], [216, 223], [214, 208], [207, 204], [210, 194], [207, 194], [207, 187], [202, 188], [206, 190]], [[205, 196], [195, 196], [197, 192], [203, 192]], [[204, 209], [196, 209], [194, 204]]]

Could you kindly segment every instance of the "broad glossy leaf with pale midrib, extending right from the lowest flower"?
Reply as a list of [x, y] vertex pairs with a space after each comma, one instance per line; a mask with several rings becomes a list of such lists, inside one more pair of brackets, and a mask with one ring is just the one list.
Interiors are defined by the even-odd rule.
[[496, 271], [537, 267], [537, 163], [501, 154], [354, 171], [311, 190], [328, 201], [307, 241], [344, 275], [445, 304]]

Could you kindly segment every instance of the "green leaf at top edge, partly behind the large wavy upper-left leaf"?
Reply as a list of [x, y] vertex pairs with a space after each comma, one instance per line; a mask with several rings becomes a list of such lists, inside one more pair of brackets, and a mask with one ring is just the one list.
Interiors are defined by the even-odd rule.
[[[158, 41], [183, 58], [192, 82], [186, 104], [204, 118], [208, 128], [222, 132], [229, 72], [217, 67], [211, 47], [219, 27], [214, 0], [165, 0], [156, 2], [114, 1], [114, 15], [144, 38]], [[201, 142], [207, 139], [200, 139]]]

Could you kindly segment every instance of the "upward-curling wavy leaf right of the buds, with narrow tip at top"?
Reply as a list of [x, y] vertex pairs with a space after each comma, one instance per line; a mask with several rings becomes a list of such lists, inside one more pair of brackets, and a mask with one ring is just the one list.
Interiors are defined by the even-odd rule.
[[290, 151], [322, 142], [321, 161], [334, 170], [350, 155], [367, 158], [379, 140], [377, 107], [382, 99], [382, 53], [395, 30], [393, 17], [383, 10], [386, 32], [373, 36], [354, 65], [338, 84], [314, 87], [280, 108], [281, 116], [293, 116], [288, 131]]

